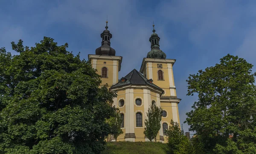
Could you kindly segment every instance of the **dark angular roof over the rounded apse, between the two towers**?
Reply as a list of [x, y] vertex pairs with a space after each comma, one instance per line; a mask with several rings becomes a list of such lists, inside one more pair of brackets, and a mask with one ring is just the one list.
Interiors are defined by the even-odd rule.
[[160, 91], [163, 91], [160, 87], [153, 84], [152, 79], [147, 79], [136, 69], [132, 70], [125, 77], [122, 77], [117, 84], [114, 84], [111, 88], [122, 87], [124, 85], [149, 85]]

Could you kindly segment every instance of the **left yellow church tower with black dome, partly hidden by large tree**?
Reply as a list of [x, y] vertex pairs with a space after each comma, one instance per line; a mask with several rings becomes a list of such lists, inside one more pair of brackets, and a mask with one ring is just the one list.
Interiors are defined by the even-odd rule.
[[88, 55], [92, 67], [102, 76], [101, 86], [108, 84], [109, 87], [118, 82], [118, 72], [121, 69], [122, 56], [116, 56], [116, 50], [111, 48], [110, 39], [112, 34], [108, 30], [108, 21], [106, 21], [106, 29], [100, 35], [102, 45], [95, 50], [95, 55]]

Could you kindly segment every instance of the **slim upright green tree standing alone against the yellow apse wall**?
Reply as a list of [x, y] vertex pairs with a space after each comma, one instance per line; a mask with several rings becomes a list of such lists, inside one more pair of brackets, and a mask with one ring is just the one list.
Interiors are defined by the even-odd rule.
[[155, 104], [152, 104], [148, 109], [144, 134], [150, 141], [155, 139], [155, 142], [157, 142], [157, 133], [161, 128], [162, 112], [163, 109]]

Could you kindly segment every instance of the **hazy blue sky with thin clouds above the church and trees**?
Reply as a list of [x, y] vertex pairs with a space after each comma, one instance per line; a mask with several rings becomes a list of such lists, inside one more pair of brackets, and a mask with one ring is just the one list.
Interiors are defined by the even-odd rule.
[[[256, 1], [254, 0], [1, 0], [0, 47], [12, 41], [34, 46], [52, 37], [87, 60], [101, 45], [106, 15], [116, 56], [123, 56], [119, 78], [140, 70], [150, 51], [152, 19], [160, 49], [174, 65], [180, 122], [197, 98], [186, 96], [189, 74], [213, 66], [228, 53], [256, 65]], [[253, 69], [256, 70], [255, 67]], [[183, 124], [184, 131], [189, 126]]]

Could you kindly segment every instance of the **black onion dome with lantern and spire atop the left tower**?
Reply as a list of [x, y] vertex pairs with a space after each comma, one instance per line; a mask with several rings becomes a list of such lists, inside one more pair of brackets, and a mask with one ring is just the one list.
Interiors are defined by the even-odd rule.
[[102, 46], [95, 50], [96, 55], [116, 56], [116, 50], [110, 47], [110, 39], [112, 34], [108, 31], [108, 21], [106, 21], [106, 29], [100, 34], [102, 38]]

